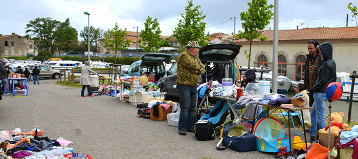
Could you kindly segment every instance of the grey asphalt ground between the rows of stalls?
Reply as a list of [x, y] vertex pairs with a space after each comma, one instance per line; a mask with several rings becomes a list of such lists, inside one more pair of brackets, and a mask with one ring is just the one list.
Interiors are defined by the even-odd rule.
[[[0, 130], [43, 130], [42, 137], [73, 141], [74, 152], [94, 158], [274, 158], [273, 153], [218, 151], [193, 133], [178, 135], [167, 121], [137, 117], [135, 105], [112, 96], [80, 97], [80, 88], [29, 81], [29, 96], [3, 95]], [[222, 146], [222, 145], [221, 145]]]

